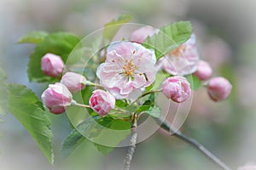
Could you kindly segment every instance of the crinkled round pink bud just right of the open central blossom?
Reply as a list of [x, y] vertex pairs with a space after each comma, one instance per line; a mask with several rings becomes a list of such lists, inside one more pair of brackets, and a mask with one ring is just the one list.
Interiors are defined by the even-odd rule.
[[166, 98], [177, 103], [182, 103], [191, 95], [191, 88], [185, 77], [169, 77], [163, 82], [162, 88]]

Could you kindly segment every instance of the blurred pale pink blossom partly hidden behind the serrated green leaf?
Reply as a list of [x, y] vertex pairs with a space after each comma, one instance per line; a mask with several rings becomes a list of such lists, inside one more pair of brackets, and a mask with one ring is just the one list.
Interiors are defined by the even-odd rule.
[[184, 76], [196, 71], [198, 60], [199, 55], [195, 47], [195, 34], [192, 34], [187, 42], [159, 59], [158, 65], [161, 65], [166, 72], [172, 75]]

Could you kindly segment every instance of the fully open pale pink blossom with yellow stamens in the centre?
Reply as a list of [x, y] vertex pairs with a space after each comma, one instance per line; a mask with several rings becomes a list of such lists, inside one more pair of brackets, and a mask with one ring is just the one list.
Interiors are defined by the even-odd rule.
[[113, 42], [96, 71], [100, 83], [116, 99], [136, 99], [155, 80], [154, 51], [136, 42]]

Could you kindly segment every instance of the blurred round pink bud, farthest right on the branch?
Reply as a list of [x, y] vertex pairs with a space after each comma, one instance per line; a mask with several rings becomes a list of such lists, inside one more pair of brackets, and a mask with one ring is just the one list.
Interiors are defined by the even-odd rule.
[[226, 99], [231, 92], [232, 85], [224, 77], [213, 77], [207, 85], [207, 91], [213, 101]]

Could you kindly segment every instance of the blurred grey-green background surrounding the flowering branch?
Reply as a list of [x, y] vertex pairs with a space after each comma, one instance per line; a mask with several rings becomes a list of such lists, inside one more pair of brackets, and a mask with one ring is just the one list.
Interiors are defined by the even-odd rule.
[[[191, 20], [201, 59], [215, 75], [230, 79], [233, 91], [222, 103], [208, 99], [204, 88], [195, 92], [184, 133], [198, 139], [230, 167], [256, 163], [256, 3], [253, 0], [1, 0], [0, 67], [8, 82], [26, 84], [39, 95], [45, 84], [28, 82], [26, 65], [33, 45], [16, 44], [28, 31], [71, 31], [84, 37], [120, 13], [134, 22], [160, 27]], [[1, 94], [0, 94], [1, 95]], [[103, 156], [84, 142], [72, 156], [61, 158], [60, 147], [71, 129], [67, 117], [52, 116], [55, 164], [52, 166], [26, 129], [12, 115], [0, 124], [1, 170], [115, 170], [122, 169], [126, 148]], [[155, 133], [137, 144], [131, 169], [218, 169], [188, 144]]]

